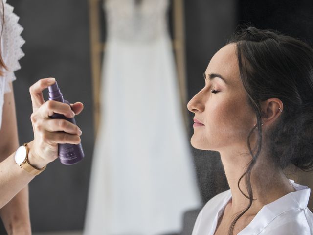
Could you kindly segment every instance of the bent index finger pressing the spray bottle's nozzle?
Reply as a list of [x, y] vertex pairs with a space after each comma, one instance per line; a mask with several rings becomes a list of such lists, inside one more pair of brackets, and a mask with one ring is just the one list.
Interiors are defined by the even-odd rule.
[[33, 112], [45, 103], [43, 90], [55, 83], [54, 78], [43, 78], [38, 80], [29, 88], [31, 102], [33, 104]]

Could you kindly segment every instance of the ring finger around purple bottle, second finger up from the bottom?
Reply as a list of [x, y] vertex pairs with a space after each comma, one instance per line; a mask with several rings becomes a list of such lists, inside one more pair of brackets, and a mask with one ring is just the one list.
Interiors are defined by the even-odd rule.
[[82, 134], [82, 131], [78, 126], [65, 119], [48, 119], [45, 122], [45, 127], [49, 132], [64, 131], [79, 136]]

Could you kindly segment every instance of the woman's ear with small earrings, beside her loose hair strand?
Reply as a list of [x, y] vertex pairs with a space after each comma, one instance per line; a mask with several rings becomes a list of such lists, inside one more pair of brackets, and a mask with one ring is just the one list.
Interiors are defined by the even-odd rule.
[[283, 102], [278, 98], [270, 98], [261, 102], [263, 125], [270, 125], [280, 115], [284, 109]]

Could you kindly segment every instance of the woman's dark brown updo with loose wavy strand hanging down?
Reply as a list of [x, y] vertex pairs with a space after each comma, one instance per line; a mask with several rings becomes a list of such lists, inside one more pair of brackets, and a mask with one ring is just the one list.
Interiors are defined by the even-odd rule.
[[[273, 164], [284, 169], [294, 164], [304, 171], [313, 169], [313, 49], [301, 40], [274, 30], [260, 30], [240, 25], [227, 44], [235, 43], [240, 79], [249, 105], [255, 111], [257, 124], [250, 131], [247, 146], [252, 156], [246, 172], [247, 208], [233, 220], [228, 235], [232, 235], [238, 219], [251, 207], [253, 191], [250, 175], [262, 146], [261, 102], [276, 97], [283, 112], [268, 133], [265, 133], [268, 154]], [[254, 154], [250, 136], [257, 128], [258, 142]]]

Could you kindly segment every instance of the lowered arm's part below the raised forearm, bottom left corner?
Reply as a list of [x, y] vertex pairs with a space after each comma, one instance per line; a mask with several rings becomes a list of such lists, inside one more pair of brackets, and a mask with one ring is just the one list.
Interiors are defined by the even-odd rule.
[[9, 235], [31, 234], [28, 204], [28, 186], [26, 186], [0, 209], [2, 222]]

